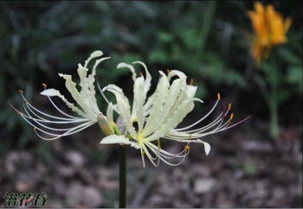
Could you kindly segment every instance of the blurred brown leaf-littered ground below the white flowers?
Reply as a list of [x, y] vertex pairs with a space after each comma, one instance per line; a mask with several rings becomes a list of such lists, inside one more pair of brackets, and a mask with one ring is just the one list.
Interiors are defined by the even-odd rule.
[[[128, 147], [128, 207], [302, 207], [302, 127], [273, 141], [267, 126], [252, 119], [209, 136], [209, 156], [192, 145], [177, 167], [146, 161], [143, 169], [139, 152]], [[118, 147], [97, 145], [103, 154], [94, 156], [99, 136], [90, 131], [45, 142], [40, 153], [10, 150], [0, 161], [0, 194], [45, 191], [47, 207], [117, 207]]]

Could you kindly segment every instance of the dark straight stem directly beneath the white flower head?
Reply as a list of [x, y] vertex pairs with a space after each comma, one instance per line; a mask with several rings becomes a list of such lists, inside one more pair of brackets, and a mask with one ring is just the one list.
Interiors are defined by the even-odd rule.
[[119, 208], [126, 208], [126, 147], [119, 145]]

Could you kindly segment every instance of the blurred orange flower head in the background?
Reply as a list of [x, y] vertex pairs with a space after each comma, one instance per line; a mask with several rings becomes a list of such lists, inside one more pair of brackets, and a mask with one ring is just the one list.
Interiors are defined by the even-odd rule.
[[282, 15], [275, 11], [272, 5], [264, 7], [255, 3], [255, 11], [248, 11], [251, 24], [256, 32], [252, 44], [252, 55], [257, 62], [267, 58], [273, 45], [287, 41], [286, 32], [291, 25], [291, 19], [283, 20]]

